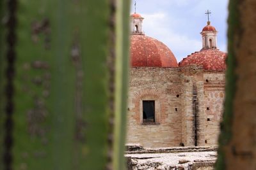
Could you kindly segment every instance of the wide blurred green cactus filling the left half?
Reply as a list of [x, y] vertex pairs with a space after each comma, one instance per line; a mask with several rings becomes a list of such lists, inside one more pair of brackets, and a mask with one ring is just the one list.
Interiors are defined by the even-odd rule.
[[1, 92], [13, 87], [1, 95], [0, 169], [125, 169], [129, 1], [6, 2], [19, 5], [10, 49], [0, 32]]

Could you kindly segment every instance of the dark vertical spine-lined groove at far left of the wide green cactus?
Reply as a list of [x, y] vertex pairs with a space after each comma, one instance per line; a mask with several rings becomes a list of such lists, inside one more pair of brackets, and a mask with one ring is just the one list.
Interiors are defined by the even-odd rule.
[[[17, 1], [7, 1], [3, 2], [6, 4], [6, 37], [3, 42], [4, 49], [3, 55], [5, 55], [6, 60], [3, 61], [3, 167], [5, 169], [12, 169], [13, 162], [13, 113], [14, 113], [14, 76], [15, 76], [15, 60], [16, 52], [15, 45], [17, 40], [16, 25], [17, 25]], [[2, 32], [3, 33], [3, 32]]]

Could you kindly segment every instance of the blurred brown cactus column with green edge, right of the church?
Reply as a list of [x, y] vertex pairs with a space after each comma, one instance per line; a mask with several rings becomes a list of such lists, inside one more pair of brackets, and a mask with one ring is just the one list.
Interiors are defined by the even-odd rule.
[[225, 113], [216, 169], [256, 169], [255, 0], [230, 0]]

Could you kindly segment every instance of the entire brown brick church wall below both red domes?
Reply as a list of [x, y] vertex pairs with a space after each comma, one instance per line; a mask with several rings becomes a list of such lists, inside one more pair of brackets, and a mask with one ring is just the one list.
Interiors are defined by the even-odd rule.
[[[217, 145], [223, 72], [208, 73], [195, 66], [136, 67], [131, 68], [129, 85], [127, 143], [147, 148]], [[155, 124], [143, 124], [143, 100], [155, 101]]]

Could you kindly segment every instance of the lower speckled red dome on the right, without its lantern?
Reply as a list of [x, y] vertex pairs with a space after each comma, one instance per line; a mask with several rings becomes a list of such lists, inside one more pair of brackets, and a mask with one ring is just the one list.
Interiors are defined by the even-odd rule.
[[189, 55], [187, 58], [179, 62], [179, 66], [189, 66], [196, 64], [202, 66], [203, 69], [221, 71], [226, 69], [225, 60], [227, 53], [221, 52], [218, 49], [207, 49], [195, 52]]

